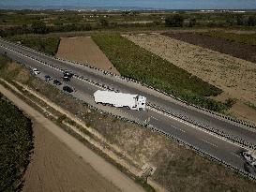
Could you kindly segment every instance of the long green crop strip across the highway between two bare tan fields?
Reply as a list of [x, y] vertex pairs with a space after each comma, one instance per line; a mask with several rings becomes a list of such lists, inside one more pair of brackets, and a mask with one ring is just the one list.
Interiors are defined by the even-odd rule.
[[217, 96], [222, 92], [220, 89], [144, 50], [127, 38], [97, 35], [93, 39], [122, 76], [142, 81], [209, 110], [227, 110], [227, 106], [221, 102], [205, 98]]

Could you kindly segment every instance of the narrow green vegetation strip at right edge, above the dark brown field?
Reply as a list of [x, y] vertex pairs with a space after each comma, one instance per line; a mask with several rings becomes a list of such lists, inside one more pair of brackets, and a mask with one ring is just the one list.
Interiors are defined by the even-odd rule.
[[223, 38], [232, 42], [237, 42], [247, 45], [256, 45], [256, 34], [234, 34], [234, 33], [225, 33], [221, 31], [211, 31], [202, 33], [204, 36]]

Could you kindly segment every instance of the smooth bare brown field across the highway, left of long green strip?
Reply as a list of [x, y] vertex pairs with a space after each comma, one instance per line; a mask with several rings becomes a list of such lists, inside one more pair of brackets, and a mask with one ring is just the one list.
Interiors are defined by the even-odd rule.
[[61, 38], [56, 56], [70, 61], [96, 66], [120, 75], [106, 55], [100, 51], [98, 45], [91, 37]]

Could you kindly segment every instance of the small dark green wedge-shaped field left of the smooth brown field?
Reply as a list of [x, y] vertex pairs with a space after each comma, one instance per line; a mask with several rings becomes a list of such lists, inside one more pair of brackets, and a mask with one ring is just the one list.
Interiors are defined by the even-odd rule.
[[39, 52], [54, 55], [58, 51], [60, 37], [9, 37], [8, 40], [19, 42]]

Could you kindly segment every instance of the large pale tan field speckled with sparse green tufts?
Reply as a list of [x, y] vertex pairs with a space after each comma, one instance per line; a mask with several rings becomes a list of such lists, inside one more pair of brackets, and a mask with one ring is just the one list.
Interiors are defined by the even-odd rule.
[[[222, 100], [230, 96], [240, 99], [242, 103], [249, 102], [256, 105], [256, 65], [254, 63], [158, 34], [125, 37], [175, 66], [184, 68], [192, 75], [216, 85], [224, 91]], [[244, 108], [247, 112], [251, 111], [252, 116], [255, 115], [255, 111], [248, 106], [244, 105]], [[241, 114], [240, 110], [236, 111], [237, 109], [241, 110], [241, 106], [233, 108], [233, 113]], [[255, 121], [255, 116], [252, 118], [250, 118], [251, 115], [242, 116]]]

